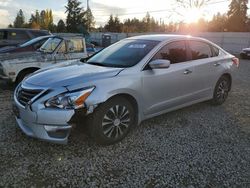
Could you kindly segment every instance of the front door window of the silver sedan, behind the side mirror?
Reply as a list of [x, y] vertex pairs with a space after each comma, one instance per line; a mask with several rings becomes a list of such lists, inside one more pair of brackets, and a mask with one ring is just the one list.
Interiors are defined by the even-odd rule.
[[152, 60], [155, 59], [166, 59], [169, 60], [171, 64], [187, 61], [185, 41], [177, 41], [167, 44], [157, 52]]

